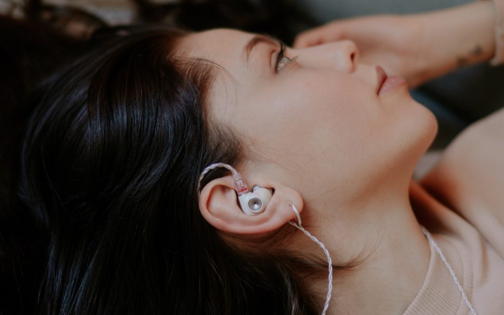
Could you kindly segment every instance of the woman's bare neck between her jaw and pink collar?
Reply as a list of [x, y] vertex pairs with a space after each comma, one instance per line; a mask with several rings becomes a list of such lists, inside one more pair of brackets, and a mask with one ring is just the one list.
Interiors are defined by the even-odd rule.
[[[320, 221], [308, 222], [306, 227], [326, 244], [333, 265], [361, 262], [335, 273], [329, 313], [344, 309], [355, 315], [400, 315], [417, 295], [430, 249], [410, 203], [409, 181], [380, 186], [338, 210], [311, 205], [324, 215], [314, 216]], [[321, 250], [310, 250], [325, 260]], [[313, 289], [325, 297], [327, 278]]]

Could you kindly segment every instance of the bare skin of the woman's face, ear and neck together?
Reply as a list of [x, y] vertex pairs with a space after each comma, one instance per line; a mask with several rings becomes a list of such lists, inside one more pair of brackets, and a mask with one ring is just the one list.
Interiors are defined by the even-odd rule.
[[[418, 293], [430, 258], [409, 200], [414, 167], [437, 124], [405, 84], [377, 94], [375, 65], [359, 61], [351, 41], [287, 48], [295, 61], [274, 70], [279, 45], [259, 43], [246, 61], [254, 34], [227, 29], [188, 35], [180, 53], [216, 62], [225, 71], [211, 87], [208, 111], [242, 139], [237, 170], [249, 186], [272, 187], [264, 213], [246, 216], [236, 205], [230, 176], [208, 183], [202, 215], [216, 228], [261, 234], [294, 218], [320, 238], [334, 264], [367, 260], [337, 273], [329, 313], [402, 314]], [[326, 260], [301, 232], [291, 249]], [[321, 301], [327, 280], [314, 281]]]

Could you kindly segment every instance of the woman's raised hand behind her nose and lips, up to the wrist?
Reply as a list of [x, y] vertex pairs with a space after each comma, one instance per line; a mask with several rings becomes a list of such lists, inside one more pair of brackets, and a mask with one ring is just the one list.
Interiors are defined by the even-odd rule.
[[293, 47], [352, 40], [359, 48], [363, 63], [379, 65], [389, 76], [404, 77], [411, 88], [424, 81], [423, 36], [423, 26], [415, 15], [369, 16], [338, 20], [300, 33]]

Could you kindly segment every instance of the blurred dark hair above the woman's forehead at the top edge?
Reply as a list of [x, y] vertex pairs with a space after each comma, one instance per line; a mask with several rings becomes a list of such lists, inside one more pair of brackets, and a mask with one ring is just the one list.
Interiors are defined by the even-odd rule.
[[300, 31], [319, 24], [309, 10], [292, 0], [182, 0], [164, 4], [137, 0], [136, 4], [143, 21], [174, 21], [195, 31], [227, 27], [268, 33], [286, 43]]

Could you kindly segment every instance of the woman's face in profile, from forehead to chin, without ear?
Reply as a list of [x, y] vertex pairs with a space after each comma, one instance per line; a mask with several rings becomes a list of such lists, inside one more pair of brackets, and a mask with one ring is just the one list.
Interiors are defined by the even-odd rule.
[[245, 174], [284, 180], [308, 199], [357, 197], [391, 172], [411, 176], [437, 124], [406, 84], [378, 93], [376, 65], [361, 64], [351, 41], [286, 47], [289, 60], [278, 42], [256, 36], [216, 29], [181, 42], [184, 54], [223, 68], [208, 110], [239, 133]]

